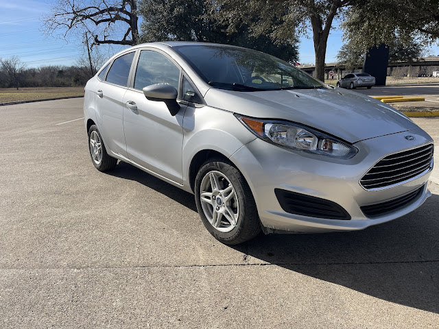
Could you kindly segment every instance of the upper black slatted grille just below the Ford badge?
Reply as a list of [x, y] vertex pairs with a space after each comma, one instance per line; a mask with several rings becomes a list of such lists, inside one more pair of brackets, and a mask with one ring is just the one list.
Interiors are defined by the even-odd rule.
[[390, 154], [373, 166], [359, 181], [366, 190], [406, 182], [431, 169], [433, 144]]

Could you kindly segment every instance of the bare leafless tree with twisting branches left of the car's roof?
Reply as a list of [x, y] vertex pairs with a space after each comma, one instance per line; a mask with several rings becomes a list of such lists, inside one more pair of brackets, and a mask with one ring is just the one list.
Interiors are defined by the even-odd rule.
[[137, 0], [54, 0], [51, 12], [43, 17], [48, 34], [59, 30], [66, 38], [73, 31], [88, 32], [92, 46], [136, 45], [137, 21]]

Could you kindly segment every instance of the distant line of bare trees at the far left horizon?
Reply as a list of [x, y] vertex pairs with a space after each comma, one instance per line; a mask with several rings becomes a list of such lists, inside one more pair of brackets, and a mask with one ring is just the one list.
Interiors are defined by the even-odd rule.
[[85, 86], [91, 76], [89, 66], [41, 66], [8, 70], [0, 65], [0, 88]]

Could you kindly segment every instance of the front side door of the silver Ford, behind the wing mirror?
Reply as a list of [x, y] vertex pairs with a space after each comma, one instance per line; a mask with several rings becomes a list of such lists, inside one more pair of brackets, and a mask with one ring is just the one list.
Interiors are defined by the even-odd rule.
[[[187, 105], [172, 116], [163, 101], [150, 101], [142, 89], [165, 83], [180, 90], [180, 67], [164, 53], [143, 49], [123, 97], [123, 128], [128, 158], [182, 184], [182, 121]], [[180, 93], [179, 93], [180, 94]]]

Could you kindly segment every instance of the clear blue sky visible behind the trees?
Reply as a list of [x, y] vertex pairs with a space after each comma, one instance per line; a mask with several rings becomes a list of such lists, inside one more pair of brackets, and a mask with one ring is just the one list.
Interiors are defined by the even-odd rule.
[[[74, 65], [84, 57], [80, 36], [46, 36], [43, 33], [41, 17], [50, 9], [50, 0], [0, 0], [0, 58], [19, 56], [27, 67], [45, 65]], [[337, 51], [342, 47], [342, 31], [331, 31], [327, 46], [326, 62], [337, 61]], [[109, 58], [122, 47], [110, 46], [101, 49]], [[439, 47], [432, 47], [434, 55], [439, 55]], [[309, 38], [302, 36], [299, 45], [300, 64], [315, 62], [311, 32]]]

